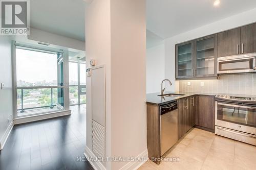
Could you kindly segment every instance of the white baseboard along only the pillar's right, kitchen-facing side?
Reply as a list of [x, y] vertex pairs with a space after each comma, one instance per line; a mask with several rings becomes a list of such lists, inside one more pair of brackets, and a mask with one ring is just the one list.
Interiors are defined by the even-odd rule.
[[121, 167], [119, 170], [132, 170], [132, 169], [138, 169], [143, 163], [145, 163], [148, 160], [148, 153], [147, 149], [143, 151], [141, 154], [136, 156], [136, 158], [139, 160], [140, 158], [147, 158], [143, 161], [134, 161], [134, 162], [128, 162], [126, 165]]

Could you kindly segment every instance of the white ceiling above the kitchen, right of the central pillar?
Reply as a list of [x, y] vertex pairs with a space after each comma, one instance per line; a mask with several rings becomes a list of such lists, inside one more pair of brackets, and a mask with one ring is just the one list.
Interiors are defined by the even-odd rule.
[[255, 0], [147, 0], [147, 30], [162, 38], [256, 8]]

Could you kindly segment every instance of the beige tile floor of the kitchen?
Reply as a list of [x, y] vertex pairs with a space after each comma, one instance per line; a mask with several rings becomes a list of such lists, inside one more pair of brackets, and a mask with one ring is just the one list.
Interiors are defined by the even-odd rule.
[[145, 162], [139, 170], [157, 169], [256, 169], [256, 147], [193, 128], [163, 157], [177, 162]]

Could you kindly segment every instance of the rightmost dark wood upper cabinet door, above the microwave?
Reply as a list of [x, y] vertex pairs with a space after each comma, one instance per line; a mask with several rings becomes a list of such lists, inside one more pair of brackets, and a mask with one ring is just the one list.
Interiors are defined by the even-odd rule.
[[241, 27], [241, 54], [256, 52], [256, 23]]

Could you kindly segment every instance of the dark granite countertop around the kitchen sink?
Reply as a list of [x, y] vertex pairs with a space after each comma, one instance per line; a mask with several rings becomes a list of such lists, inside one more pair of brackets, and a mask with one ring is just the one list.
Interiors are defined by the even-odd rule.
[[158, 96], [160, 95], [160, 93], [148, 93], [146, 94], [146, 103], [149, 104], [153, 104], [153, 105], [164, 105], [173, 101], [176, 101], [178, 99], [182, 99], [182, 98], [186, 98], [188, 96], [191, 95], [212, 95], [215, 96], [215, 93], [198, 93], [198, 92], [184, 92], [184, 91], [165, 91], [164, 94], [169, 94], [169, 93], [173, 93], [173, 94], [184, 94], [181, 96], [177, 96], [175, 98], [169, 98], [169, 97], [162, 97], [162, 96]]

